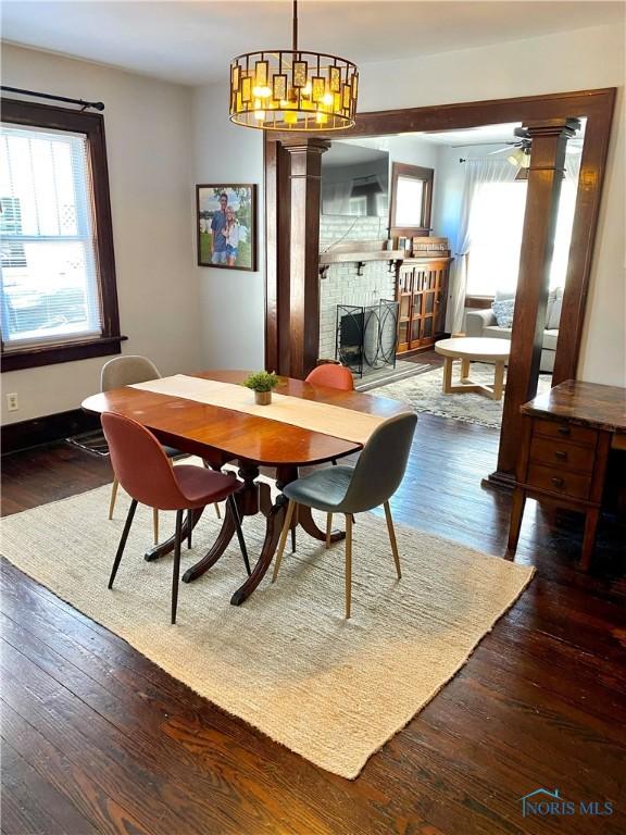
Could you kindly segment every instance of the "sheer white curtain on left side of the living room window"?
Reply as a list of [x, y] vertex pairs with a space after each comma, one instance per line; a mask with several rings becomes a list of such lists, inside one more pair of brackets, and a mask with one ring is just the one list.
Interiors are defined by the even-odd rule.
[[494, 157], [465, 160], [465, 183], [461, 202], [461, 215], [454, 247], [454, 261], [450, 271], [450, 316], [452, 334], [463, 331], [465, 296], [467, 292], [467, 256], [472, 247], [472, 203], [481, 186], [490, 183], [510, 183], [515, 179], [517, 169], [506, 160]]

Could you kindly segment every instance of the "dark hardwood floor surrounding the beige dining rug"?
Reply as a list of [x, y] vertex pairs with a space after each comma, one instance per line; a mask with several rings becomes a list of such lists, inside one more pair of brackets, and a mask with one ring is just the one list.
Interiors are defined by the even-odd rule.
[[[497, 441], [421, 415], [396, 519], [502, 554], [510, 497], [480, 486]], [[3, 513], [110, 478], [107, 459], [65, 444], [7, 456]], [[516, 559], [535, 581], [354, 782], [223, 713], [4, 562], [3, 835], [625, 833], [624, 528], [602, 521], [584, 575], [581, 520], [528, 504]], [[615, 811], [523, 818], [519, 798], [539, 787]]]

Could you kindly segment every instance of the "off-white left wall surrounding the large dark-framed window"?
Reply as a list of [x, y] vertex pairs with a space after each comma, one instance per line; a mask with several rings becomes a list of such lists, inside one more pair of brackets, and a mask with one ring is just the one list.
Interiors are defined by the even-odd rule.
[[[118, 70], [4, 46], [2, 83], [103, 101], [124, 353], [162, 373], [203, 365], [191, 188], [191, 90]], [[5, 372], [20, 410], [2, 423], [76, 409], [108, 358]]]

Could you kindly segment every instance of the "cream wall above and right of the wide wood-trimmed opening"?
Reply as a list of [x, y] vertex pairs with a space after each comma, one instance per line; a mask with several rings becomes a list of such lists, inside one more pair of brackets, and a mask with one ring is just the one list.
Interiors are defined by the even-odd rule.
[[359, 85], [363, 112], [619, 87], [578, 367], [610, 385], [626, 384], [624, 76], [623, 28], [598, 26], [365, 64]]

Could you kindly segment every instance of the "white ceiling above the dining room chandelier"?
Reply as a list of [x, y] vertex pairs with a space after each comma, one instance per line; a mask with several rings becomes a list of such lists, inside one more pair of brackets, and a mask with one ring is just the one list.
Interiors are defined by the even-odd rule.
[[[5, 0], [3, 39], [200, 85], [233, 55], [290, 46], [291, 3], [184, 0]], [[359, 63], [414, 58], [602, 24], [623, 25], [622, 2], [308, 0], [300, 43]]]

